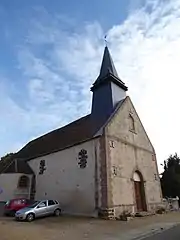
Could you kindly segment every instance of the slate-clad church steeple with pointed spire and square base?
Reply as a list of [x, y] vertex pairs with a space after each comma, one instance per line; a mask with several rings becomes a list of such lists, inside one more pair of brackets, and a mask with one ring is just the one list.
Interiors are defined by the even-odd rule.
[[117, 104], [125, 99], [127, 90], [128, 88], [118, 76], [109, 49], [106, 46], [100, 74], [91, 87], [93, 92], [91, 115], [94, 121], [104, 124]]

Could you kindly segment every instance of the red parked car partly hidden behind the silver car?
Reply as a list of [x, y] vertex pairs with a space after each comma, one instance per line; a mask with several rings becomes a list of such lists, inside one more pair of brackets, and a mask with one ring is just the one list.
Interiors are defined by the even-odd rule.
[[6, 216], [14, 216], [16, 211], [25, 208], [29, 205], [32, 205], [34, 201], [26, 199], [26, 198], [16, 198], [11, 199], [6, 202], [4, 206], [4, 215]]

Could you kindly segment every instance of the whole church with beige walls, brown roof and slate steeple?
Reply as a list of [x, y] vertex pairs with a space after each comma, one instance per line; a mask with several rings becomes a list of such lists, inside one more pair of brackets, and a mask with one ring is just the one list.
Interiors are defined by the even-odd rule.
[[62, 212], [118, 217], [162, 203], [154, 147], [106, 46], [91, 113], [30, 141], [0, 166], [0, 201], [56, 199]]

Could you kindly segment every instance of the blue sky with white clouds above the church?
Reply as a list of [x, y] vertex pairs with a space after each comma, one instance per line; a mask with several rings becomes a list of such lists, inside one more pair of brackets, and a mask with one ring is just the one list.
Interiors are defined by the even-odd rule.
[[180, 0], [1, 0], [0, 156], [90, 112], [105, 35], [158, 164], [180, 154]]

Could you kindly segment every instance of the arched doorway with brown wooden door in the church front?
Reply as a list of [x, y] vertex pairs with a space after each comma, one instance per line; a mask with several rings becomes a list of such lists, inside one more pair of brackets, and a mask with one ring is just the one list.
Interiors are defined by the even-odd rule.
[[133, 181], [137, 212], [147, 211], [144, 181], [142, 174], [139, 171], [134, 172]]

